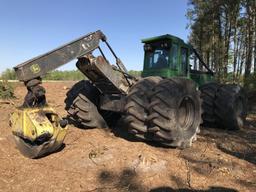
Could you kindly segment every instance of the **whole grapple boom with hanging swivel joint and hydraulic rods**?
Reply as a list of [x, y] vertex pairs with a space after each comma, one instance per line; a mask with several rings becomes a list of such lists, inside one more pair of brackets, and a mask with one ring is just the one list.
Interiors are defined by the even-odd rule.
[[[104, 56], [103, 51], [99, 46], [100, 40], [105, 42], [107, 47], [110, 49], [111, 53], [116, 59], [116, 65], [118, 66], [119, 69], [116, 69], [113, 67], [111, 68], [111, 65], [108, 63], [107, 59]], [[125, 66], [123, 65], [121, 60], [116, 56], [111, 46], [108, 44], [105, 35], [100, 30], [98, 30], [96, 32], [89, 33], [57, 49], [54, 49], [48, 53], [35, 57], [29, 61], [26, 61], [14, 67], [17, 78], [20, 81], [23, 81], [28, 89], [28, 93], [25, 97], [25, 102], [23, 106], [25, 107], [44, 106], [46, 104], [45, 89], [39, 85], [41, 84], [42, 77], [47, 72], [52, 71], [70, 62], [75, 58], [78, 58], [78, 59], [83, 58], [83, 56], [88, 55], [89, 53], [92, 53], [97, 48], [101, 52], [104, 58], [104, 61], [107, 63], [107, 64], [105, 63], [104, 65], [104, 62], [99, 60], [101, 61], [99, 63], [104, 66], [98, 66], [98, 68], [100, 68], [101, 70], [96, 67], [100, 71], [99, 72], [100, 75], [98, 74], [98, 77], [105, 78], [106, 82], [109, 82], [111, 85], [113, 85], [112, 87], [117, 86], [115, 88], [117, 88], [118, 91], [121, 91], [121, 90], [124, 91], [124, 89], [119, 90], [120, 89], [119, 86], [123, 85], [123, 82], [121, 80], [122, 78], [119, 79], [119, 81], [117, 81], [117, 78], [113, 78], [113, 77], [110, 78], [110, 76], [106, 77], [106, 74], [104, 74], [107, 72], [111, 73], [112, 72], [111, 70], [118, 70], [123, 74], [123, 79], [126, 80], [127, 85], [130, 87], [131, 82], [130, 80], [128, 80], [128, 78], [131, 78], [131, 76], [127, 75], [127, 70]], [[94, 64], [94, 66], [96, 66], [96, 64]], [[102, 70], [103, 70], [103, 74], [102, 74]], [[82, 71], [82, 72], [87, 75], [90, 74], [89, 72], [85, 72], [85, 71]], [[96, 80], [95, 80], [95, 83], [96, 83]]]

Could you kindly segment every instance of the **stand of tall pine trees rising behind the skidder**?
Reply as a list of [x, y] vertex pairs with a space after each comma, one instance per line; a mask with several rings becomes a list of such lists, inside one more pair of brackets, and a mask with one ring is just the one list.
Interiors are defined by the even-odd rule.
[[218, 80], [256, 80], [255, 0], [189, 0], [187, 18], [189, 42]]

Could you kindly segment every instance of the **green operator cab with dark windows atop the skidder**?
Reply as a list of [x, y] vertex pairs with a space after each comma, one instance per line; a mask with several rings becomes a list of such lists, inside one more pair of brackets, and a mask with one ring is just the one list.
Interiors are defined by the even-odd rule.
[[[213, 72], [209, 68], [204, 71], [197, 69], [204, 63], [199, 58], [200, 62], [197, 64], [195, 59], [199, 55], [194, 54], [193, 47], [182, 39], [166, 34], [143, 39], [142, 43], [145, 52], [142, 77], [185, 77], [194, 80], [198, 86], [214, 81]], [[190, 64], [192, 59], [193, 65]]]

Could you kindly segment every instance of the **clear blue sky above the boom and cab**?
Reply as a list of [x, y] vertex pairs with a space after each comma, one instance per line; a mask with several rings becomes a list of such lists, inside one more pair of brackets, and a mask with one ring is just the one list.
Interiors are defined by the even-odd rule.
[[[169, 33], [187, 40], [187, 6], [187, 0], [0, 0], [0, 73], [98, 29], [128, 70], [142, 70], [141, 39]], [[71, 69], [75, 61], [60, 68]]]

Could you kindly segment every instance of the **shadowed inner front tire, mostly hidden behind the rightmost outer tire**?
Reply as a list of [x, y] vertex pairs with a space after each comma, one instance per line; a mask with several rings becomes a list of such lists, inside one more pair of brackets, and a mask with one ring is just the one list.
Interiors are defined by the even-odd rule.
[[215, 99], [216, 92], [219, 89], [220, 84], [211, 82], [200, 86], [201, 99], [202, 99], [202, 119], [203, 126], [216, 127], [215, 116]]

